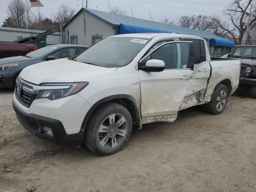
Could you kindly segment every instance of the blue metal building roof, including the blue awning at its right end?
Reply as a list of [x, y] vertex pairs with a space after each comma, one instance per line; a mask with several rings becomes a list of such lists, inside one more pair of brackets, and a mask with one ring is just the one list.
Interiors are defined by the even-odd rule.
[[[93, 9], [86, 9], [86, 8], [81, 8], [66, 24], [64, 24], [63, 28], [74, 18], [80, 11], [86, 11], [101, 20], [104, 20], [105, 22], [119, 27], [120, 24], [127, 24], [127, 25], [132, 25], [132, 26], [137, 26], [137, 27], [144, 27], [144, 28], [151, 28], [154, 30], [162, 30], [162, 31], [168, 31], [168, 32], [176, 32], [180, 34], [187, 34], [187, 35], [194, 35], [194, 36], [199, 36], [202, 37], [206, 40], [212, 40], [212, 39], [218, 39], [220, 41], [216, 41], [216, 46], [234, 46], [230, 40], [226, 40], [224, 38], [221, 38], [219, 36], [216, 36], [210, 32], [202, 31], [202, 30], [196, 30], [196, 29], [190, 29], [190, 28], [185, 28], [181, 26], [175, 26], [175, 25], [170, 25], [170, 24], [164, 24], [160, 22], [154, 22], [150, 20], [145, 20], [145, 19], [140, 19], [140, 18], [133, 18], [130, 16], [124, 16], [124, 15], [117, 15], [109, 12], [103, 12], [99, 10], [93, 10]], [[137, 28], [138, 29], [138, 28]], [[225, 41], [227, 41], [225, 43]], [[221, 43], [220, 43], [221, 42]]]

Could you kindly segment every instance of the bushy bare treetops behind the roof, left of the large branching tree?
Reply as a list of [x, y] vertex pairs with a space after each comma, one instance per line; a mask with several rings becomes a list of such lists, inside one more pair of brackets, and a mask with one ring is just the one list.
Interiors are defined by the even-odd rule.
[[186, 28], [210, 31], [212, 30], [212, 19], [211, 16], [206, 15], [182, 16], [179, 19], [179, 25]]

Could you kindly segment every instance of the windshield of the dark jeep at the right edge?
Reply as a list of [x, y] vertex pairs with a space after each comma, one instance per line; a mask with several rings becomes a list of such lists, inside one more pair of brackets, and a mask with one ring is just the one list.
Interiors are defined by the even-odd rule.
[[233, 58], [256, 58], [256, 46], [238, 46], [232, 53]]

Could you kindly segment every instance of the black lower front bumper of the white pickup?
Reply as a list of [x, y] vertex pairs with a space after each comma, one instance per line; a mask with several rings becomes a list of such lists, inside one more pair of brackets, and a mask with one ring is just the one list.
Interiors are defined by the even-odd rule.
[[[38, 136], [39, 138], [55, 142], [59, 145], [70, 146], [72, 148], [80, 148], [84, 136], [83, 130], [80, 130], [80, 132], [76, 134], [67, 134], [62, 122], [59, 120], [36, 114], [27, 114], [20, 110], [20, 108], [18, 108], [14, 102], [12, 102], [12, 106], [16, 112], [16, 116], [20, 124], [22, 124], [22, 126], [24, 126], [24, 128], [26, 128], [26, 130], [32, 134]], [[39, 131], [38, 127], [44, 126], [50, 127], [52, 129], [53, 136]]]

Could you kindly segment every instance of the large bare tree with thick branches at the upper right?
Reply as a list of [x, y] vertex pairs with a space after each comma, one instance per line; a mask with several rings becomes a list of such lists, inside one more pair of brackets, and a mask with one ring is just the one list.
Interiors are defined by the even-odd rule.
[[216, 16], [213, 17], [216, 27], [220, 28], [220, 30], [223, 30], [224, 32], [227, 32], [227, 35], [230, 36], [230, 38], [232, 38], [238, 45], [242, 44], [242, 40], [247, 29], [247, 23], [249, 23], [248, 29], [252, 29], [252, 26], [255, 25], [255, 5], [253, 6], [252, 16], [250, 20], [248, 20], [250, 5], [252, 3], [253, 0], [248, 0], [245, 3], [243, 3], [242, 0], [233, 0], [230, 6], [223, 11], [229, 22], [223, 22]]

